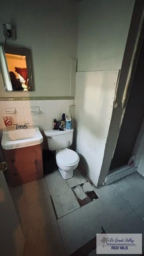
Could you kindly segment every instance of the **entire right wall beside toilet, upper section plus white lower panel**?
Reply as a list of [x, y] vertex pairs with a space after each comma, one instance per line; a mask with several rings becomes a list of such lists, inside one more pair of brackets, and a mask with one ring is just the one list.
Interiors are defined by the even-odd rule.
[[[111, 86], [112, 83], [116, 86], [117, 80], [112, 80], [112, 74], [121, 69], [133, 7], [134, 0], [80, 2], [76, 150], [80, 154], [82, 169], [96, 186], [115, 96]], [[96, 73], [95, 77], [91, 77], [93, 73]], [[97, 74], [101, 79], [98, 79]], [[108, 110], [108, 100], [111, 111]], [[86, 112], [86, 106], [89, 113]]]

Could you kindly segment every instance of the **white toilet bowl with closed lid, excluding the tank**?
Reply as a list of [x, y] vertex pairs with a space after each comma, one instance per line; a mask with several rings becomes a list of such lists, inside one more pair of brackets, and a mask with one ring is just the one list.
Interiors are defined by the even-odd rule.
[[74, 169], [78, 166], [79, 160], [78, 154], [71, 149], [64, 148], [56, 151], [56, 164], [64, 180], [74, 176]]

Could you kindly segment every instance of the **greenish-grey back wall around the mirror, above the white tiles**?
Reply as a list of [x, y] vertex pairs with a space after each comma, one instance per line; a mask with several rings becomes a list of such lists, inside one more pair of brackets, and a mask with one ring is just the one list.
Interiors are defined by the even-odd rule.
[[[74, 0], [1, 0], [0, 24], [16, 27], [16, 41], [32, 52], [33, 92], [4, 92], [1, 97], [70, 96], [70, 59], [77, 58], [78, 3]], [[2, 26], [1, 43], [4, 44]], [[73, 96], [73, 95], [72, 95]]]

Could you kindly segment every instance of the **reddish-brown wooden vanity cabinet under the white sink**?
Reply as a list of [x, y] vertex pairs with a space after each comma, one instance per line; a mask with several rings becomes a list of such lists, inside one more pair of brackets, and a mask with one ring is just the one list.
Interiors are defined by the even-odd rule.
[[11, 186], [19, 186], [43, 177], [42, 144], [4, 150], [4, 154]]

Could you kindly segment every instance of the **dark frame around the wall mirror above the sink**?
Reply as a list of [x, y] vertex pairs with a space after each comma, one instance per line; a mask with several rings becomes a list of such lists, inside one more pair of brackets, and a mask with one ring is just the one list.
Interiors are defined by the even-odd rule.
[[[28, 85], [30, 86], [30, 90], [28, 90], [28, 92], [32, 91], [32, 70], [31, 70], [31, 64], [30, 64], [30, 50], [28, 48], [2, 45], [2, 44], [0, 46], [2, 46], [2, 48], [3, 48], [5, 61], [6, 61], [5, 53], [26, 56], [26, 67], [27, 67], [27, 72], [28, 72]], [[7, 61], [6, 61], [6, 67], [7, 67], [7, 72], [8, 72], [8, 76], [9, 76]], [[11, 83], [11, 81], [10, 81], [10, 83]], [[4, 84], [4, 81], [3, 81], [3, 84]], [[26, 91], [7, 90], [5, 87], [7, 88], [7, 86], [4, 85], [5, 92], [26, 92]]]

